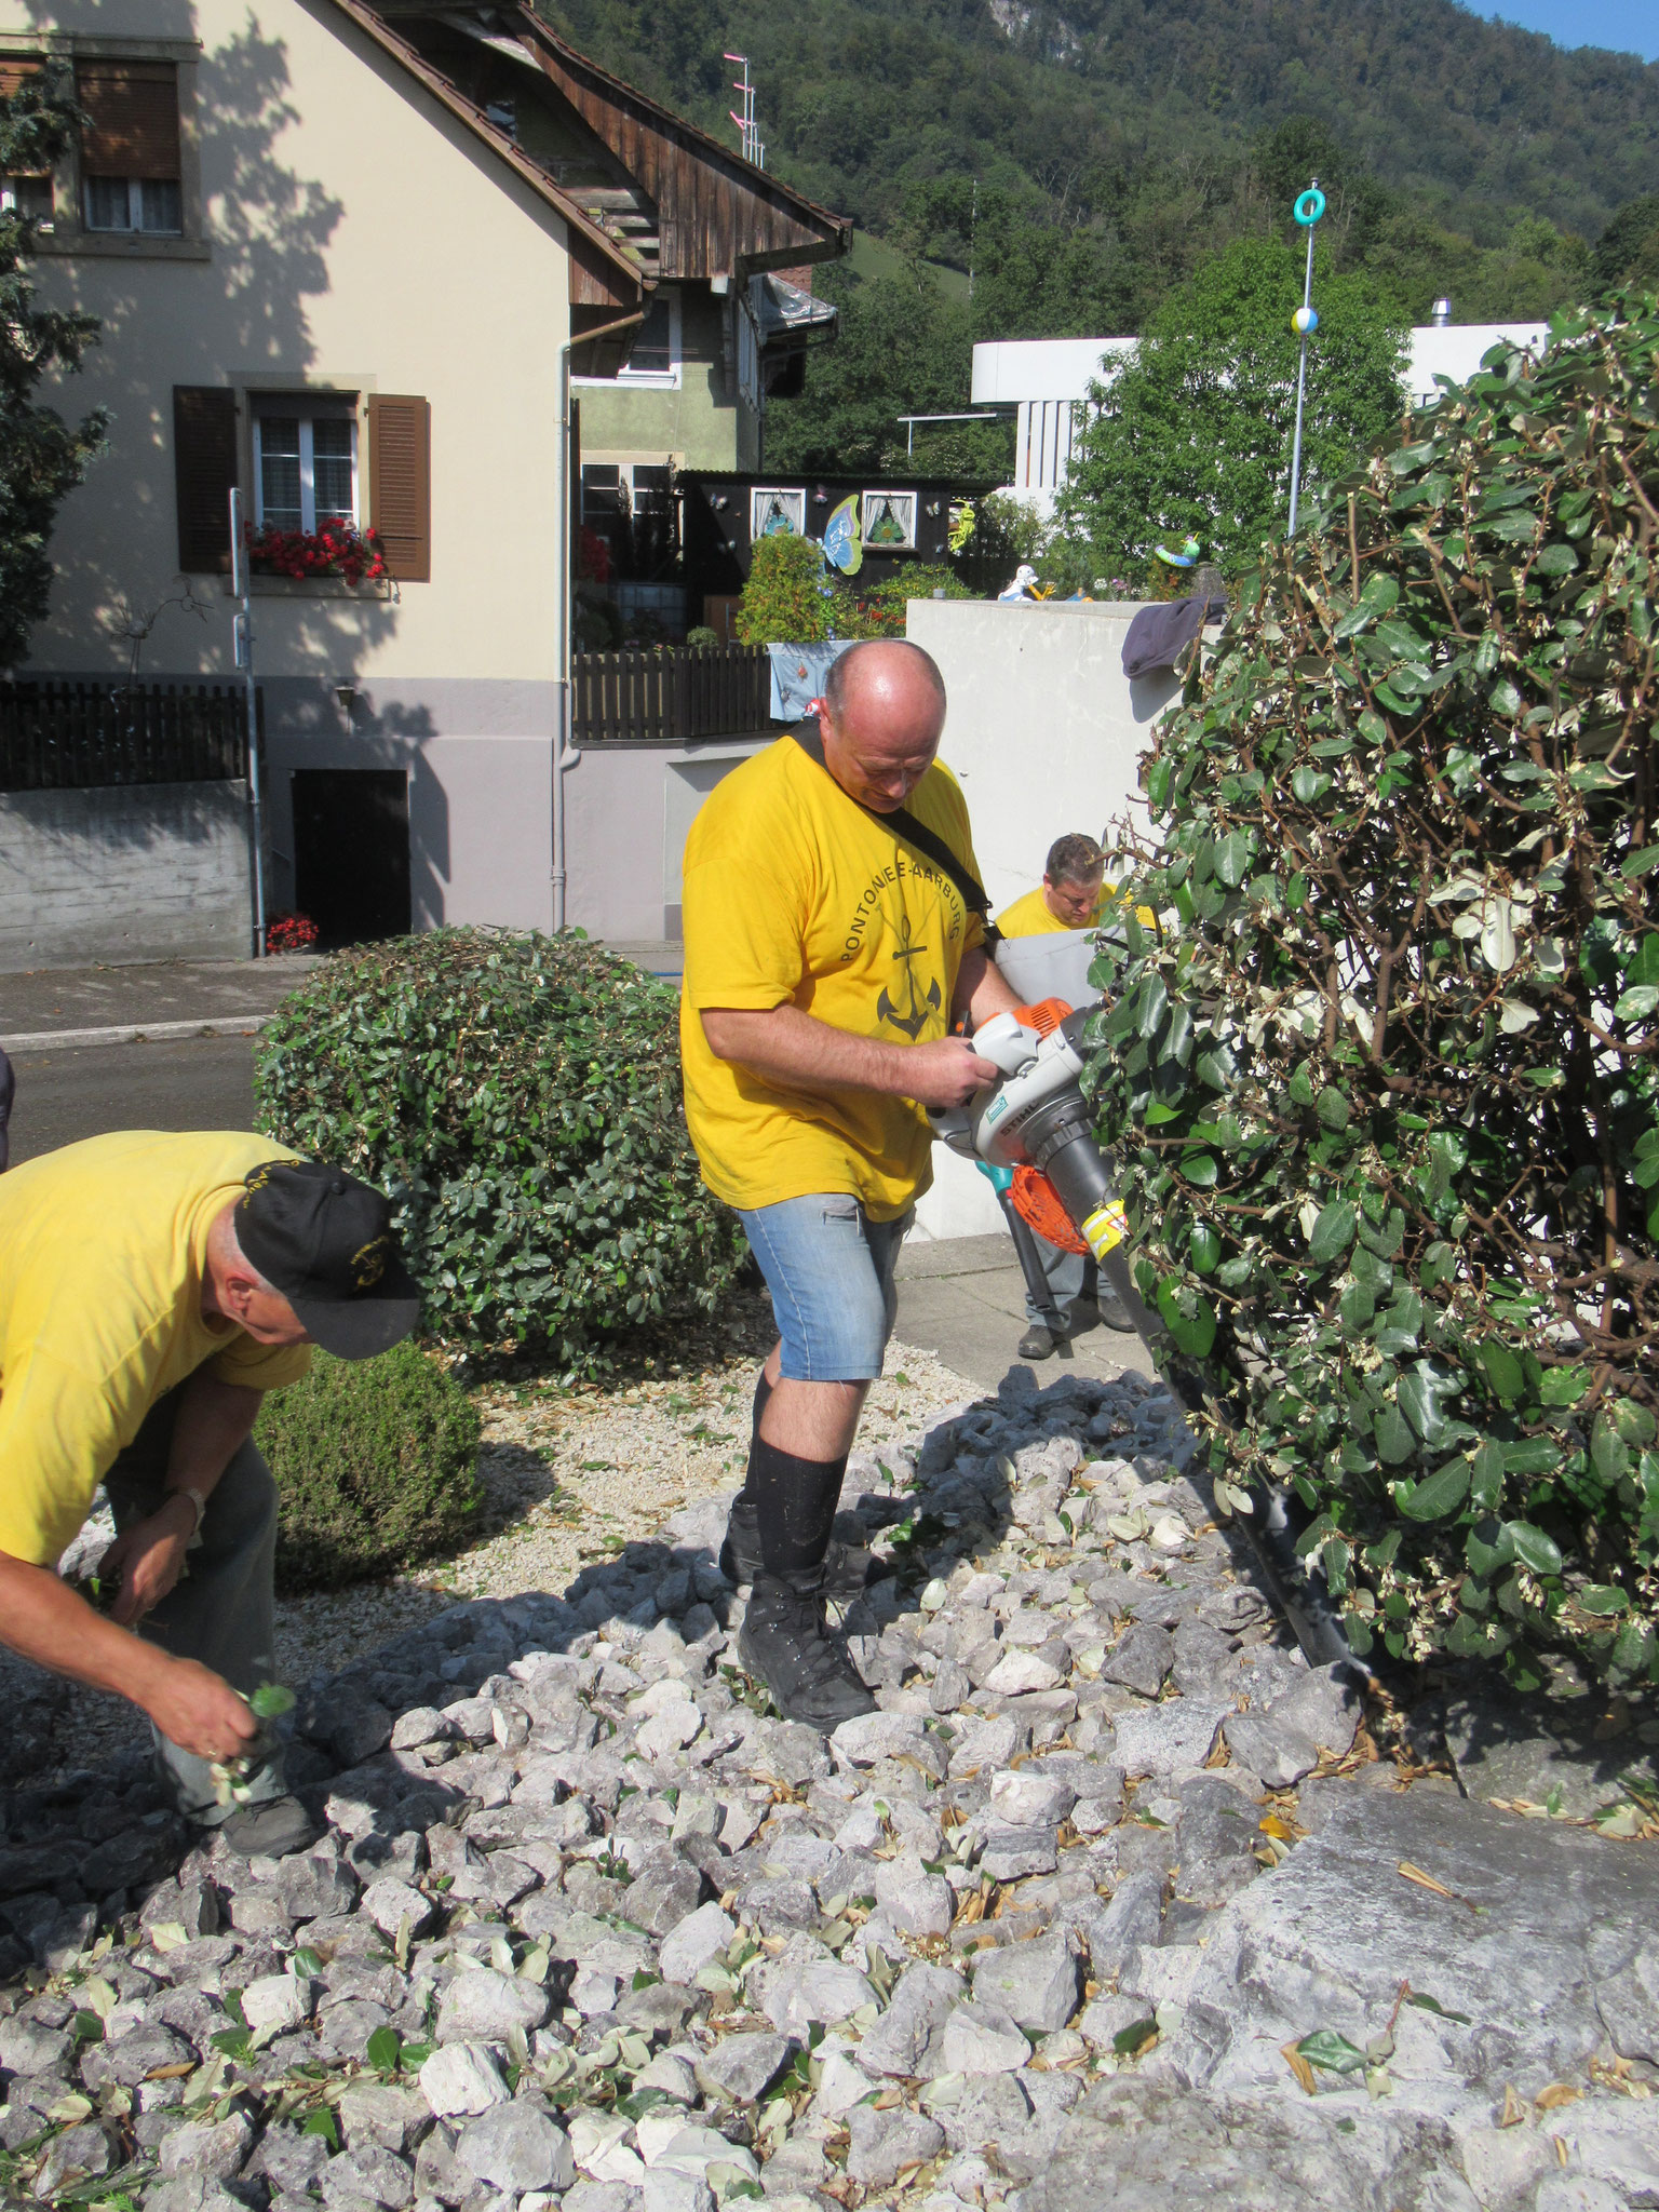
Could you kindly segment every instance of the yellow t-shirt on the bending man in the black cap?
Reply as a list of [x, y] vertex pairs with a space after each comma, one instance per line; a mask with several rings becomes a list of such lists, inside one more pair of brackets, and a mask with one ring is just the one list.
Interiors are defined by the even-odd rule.
[[0, 1175], [0, 1551], [51, 1566], [155, 1400], [208, 1365], [276, 1389], [310, 1345], [257, 1345], [206, 1321], [215, 1214], [270, 1137], [131, 1130]]

